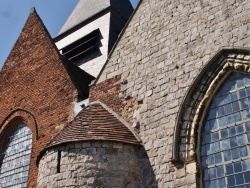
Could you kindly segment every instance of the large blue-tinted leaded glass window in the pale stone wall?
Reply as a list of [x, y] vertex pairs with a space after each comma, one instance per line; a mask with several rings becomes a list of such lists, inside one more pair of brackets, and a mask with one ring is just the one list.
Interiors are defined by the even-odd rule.
[[203, 187], [250, 187], [250, 75], [233, 72], [208, 110], [200, 139]]

